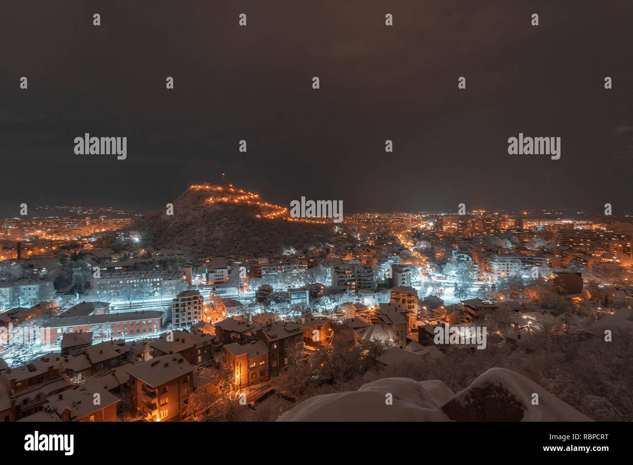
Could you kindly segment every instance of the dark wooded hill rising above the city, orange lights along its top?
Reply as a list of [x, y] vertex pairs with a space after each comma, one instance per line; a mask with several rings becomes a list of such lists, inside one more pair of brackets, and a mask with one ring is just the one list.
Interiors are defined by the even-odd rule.
[[184, 249], [201, 256], [281, 255], [329, 242], [332, 224], [287, 221], [286, 208], [231, 185], [193, 185], [166, 209], [146, 214], [130, 228], [154, 248]]

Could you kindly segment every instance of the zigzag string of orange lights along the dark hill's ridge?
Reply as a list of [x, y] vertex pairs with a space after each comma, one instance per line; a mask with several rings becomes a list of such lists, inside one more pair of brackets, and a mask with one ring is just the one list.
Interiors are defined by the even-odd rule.
[[291, 218], [288, 214], [289, 210], [285, 207], [271, 204], [268, 202], [263, 202], [260, 200], [260, 194], [254, 194], [253, 192], [246, 192], [242, 189], [235, 189], [232, 184], [222, 186], [222, 185], [210, 185], [207, 183], [204, 184], [194, 184], [190, 189], [194, 190], [210, 190], [213, 192], [222, 193], [225, 195], [211, 195], [206, 199], [206, 202], [209, 204], [213, 203], [235, 203], [235, 204], [246, 204], [246, 205], [254, 205], [264, 209], [264, 212], [261, 214], [254, 215], [255, 218], [267, 218], [268, 220], [277, 220], [282, 219], [286, 221], [301, 221], [303, 223], [320, 223], [327, 224], [331, 223], [332, 219], [317, 219], [317, 218]]

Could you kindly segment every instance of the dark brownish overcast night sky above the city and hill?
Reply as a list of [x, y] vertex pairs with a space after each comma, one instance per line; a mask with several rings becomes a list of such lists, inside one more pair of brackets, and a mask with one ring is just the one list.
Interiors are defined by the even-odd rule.
[[[344, 213], [633, 208], [630, 0], [0, 10], [3, 214], [22, 202], [155, 209], [222, 172], [275, 203], [340, 199]], [[86, 132], [127, 137], [127, 159], [76, 155]], [[561, 137], [561, 158], [509, 155], [520, 132]]]

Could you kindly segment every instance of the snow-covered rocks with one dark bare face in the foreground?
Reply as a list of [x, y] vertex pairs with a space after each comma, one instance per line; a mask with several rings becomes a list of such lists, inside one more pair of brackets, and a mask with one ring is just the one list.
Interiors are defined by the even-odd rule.
[[[532, 405], [532, 394], [539, 404]], [[388, 405], [387, 394], [392, 395]], [[356, 392], [317, 395], [277, 421], [591, 421], [534, 381], [491, 368], [453, 394], [442, 381], [385, 378]]]

